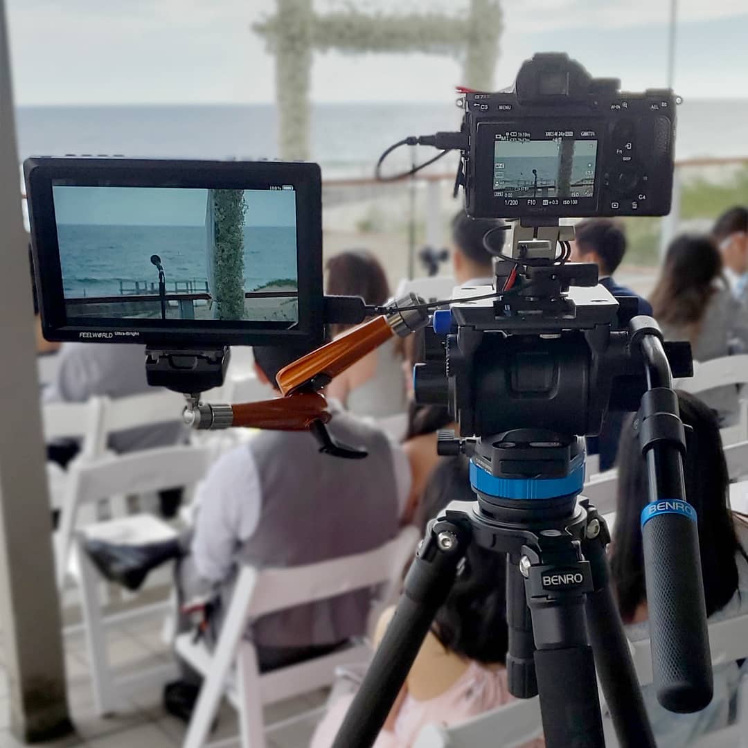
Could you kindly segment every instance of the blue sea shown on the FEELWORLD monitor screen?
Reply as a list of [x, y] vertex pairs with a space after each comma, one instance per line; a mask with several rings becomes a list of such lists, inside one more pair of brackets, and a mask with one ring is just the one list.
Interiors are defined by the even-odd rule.
[[[159, 273], [150, 256], [161, 257], [168, 292], [191, 283], [205, 291], [206, 232], [200, 226], [58, 227], [66, 298], [120, 294], [120, 281], [133, 292], [135, 283], [158, 290]], [[296, 278], [295, 229], [248, 226], [244, 230], [244, 288], [257, 290], [272, 281]]]

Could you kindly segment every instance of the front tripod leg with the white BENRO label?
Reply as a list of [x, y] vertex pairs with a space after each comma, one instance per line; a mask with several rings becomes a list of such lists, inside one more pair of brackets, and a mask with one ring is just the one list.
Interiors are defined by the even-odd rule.
[[547, 548], [522, 549], [531, 562], [525, 592], [533, 616], [545, 744], [604, 748], [595, 662], [584, 617], [585, 593], [592, 589], [589, 564], [580, 558], [578, 543], [560, 534], [541, 540], [551, 541]]

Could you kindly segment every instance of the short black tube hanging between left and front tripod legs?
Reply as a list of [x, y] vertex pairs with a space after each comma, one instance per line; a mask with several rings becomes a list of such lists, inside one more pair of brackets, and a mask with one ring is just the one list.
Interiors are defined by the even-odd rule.
[[538, 694], [535, 676], [533, 619], [524, 595], [524, 577], [519, 571], [518, 554], [506, 554], [506, 623], [509, 649], [506, 653], [506, 681], [509, 693], [518, 699]]

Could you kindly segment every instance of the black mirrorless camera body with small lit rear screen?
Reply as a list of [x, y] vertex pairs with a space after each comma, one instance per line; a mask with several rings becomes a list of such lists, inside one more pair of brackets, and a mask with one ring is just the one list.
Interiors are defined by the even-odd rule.
[[468, 215], [666, 215], [676, 104], [669, 89], [619, 91], [568, 55], [535, 55], [514, 88], [465, 93]]

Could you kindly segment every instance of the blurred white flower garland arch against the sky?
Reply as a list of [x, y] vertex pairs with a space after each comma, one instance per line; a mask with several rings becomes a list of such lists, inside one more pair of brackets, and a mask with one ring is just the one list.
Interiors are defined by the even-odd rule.
[[444, 13], [362, 13], [353, 4], [321, 15], [312, 0], [276, 0], [278, 10], [254, 30], [275, 55], [278, 144], [283, 159], [310, 156], [309, 85], [313, 49], [426, 52], [462, 60], [465, 85], [491, 91], [502, 31], [498, 0], [470, 0], [465, 19]]

